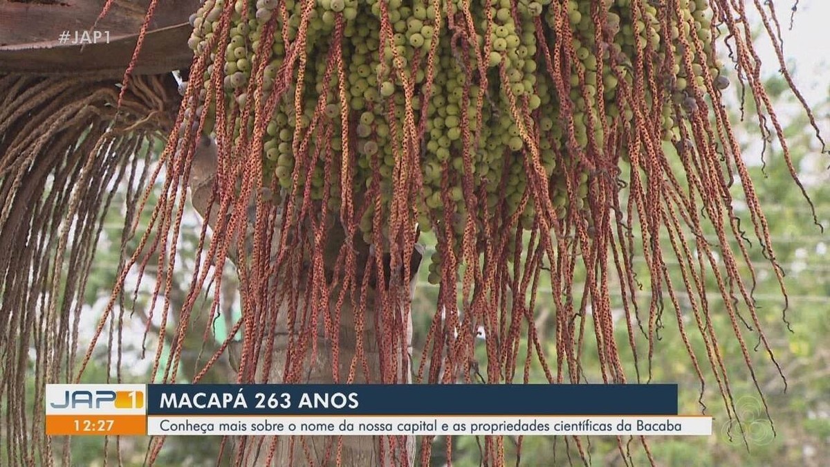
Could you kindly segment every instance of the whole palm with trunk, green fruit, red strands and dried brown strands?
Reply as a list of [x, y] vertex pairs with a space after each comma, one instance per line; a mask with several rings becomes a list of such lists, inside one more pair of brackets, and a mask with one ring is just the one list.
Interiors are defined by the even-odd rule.
[[[549, 382], [583, 381], [586, 337], [597, 342], [604, 382], [642, 381], [651, 375], [641, 379], [637, 352], [651, 363], [664, 294], [679, 307], [674, 293], [685, 289], [706, 347], [699, 361], [678, 320], [696, 374], [702, 385], [710, 371], [734, 409], [702, 275], [717, 278], [750, 372], [738, 304], [773, 357], [748, 287], [754, 277], [739, 273], [749, 256], [731, 212], [734, 179], [783, 284], [720, 103], [730, 79], [714, 52], [719, 25], [730, 32], [738, 78], [777, 124], [735, 2], [502, 0], [492, 14], [490, 3], [319, 3], [0, 3], [0, 398], [9, 465], [47, 464], [54, 455], [42, 415], [27, 413], [27, 372], [36, 374], [40, 407], [46, 382], [80, 379], [102, 333], [109, 327], [111, 340], [129, 319], [114, 310], [131, 272], [155, 261], [169, 288], [188, 189], [205, 219], [201, 238], [208, 226], [213, 235], [199, 246], [177, 310], [172, 356], [154, 367], [164, 381], [176, 380], [193, 304], [211, 279], [214, 317], [229, 261], [240, 275], [243, 316], [205, 371], [237, 347], [238, 381], [469, 381], [479, 327], [488, 336], [488, 383], [520, 379], [520, 342], [529, 357], [535, 347]], [[759, 12], [775, 36], [776, 17]], [[366, 24], [355, 26], [356, 18]], [[106, 34], [72, 44], [77, 25]], [[774, 133], [783, 140], [777, 125]], [[102, 209], [122, 180], [131, 189], [146, 181], [135, 155], [151, 154], [159, 139], [166, 144], [149, 175], [164, 174], [159, 203], [144, 233], [134, 229], [134, 210], [125, 215], [124, 242], [139, 234], [139, 246], [125, 251], [95, 341], [76, 355]], [[148, 196], [134, 189], [131, 209], [144, 209]], [[436, 232], [431, 276], [441, 289], [413, 378], [410, 302], [422, 227]], [[664, 252], [666, 235], [672, 248]], [[635, 251], [646, 258], [647, 278], [635, 277]], [[682, 284], [665, 273], [666, 256], [687, 272]], [[625, 319], [617, 321], [627, 325], [627, 343], [613, 336], [610, 281], [623, 289]], [[640, 281], [652, 290], [642, 322], [633, 304]], [[551, 366], [533, 320], [540, 283], [555, 307]], [[166, 319], [169, 297], [157, 288], [157, 298]], [[636, 347], [637, 325], [647, 349]], [[625, 345], [636, 376], [623, 369]], [[245, 465], [413, 465], [414, 443], [232, 440]], [[496, 465], [503, 443], [488, 439], [482, 448]]]

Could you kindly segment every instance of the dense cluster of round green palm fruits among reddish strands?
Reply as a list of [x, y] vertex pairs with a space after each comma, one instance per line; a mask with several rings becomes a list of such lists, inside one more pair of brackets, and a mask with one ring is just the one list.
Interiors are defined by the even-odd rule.
[[237, 140], [255, 125], [241, 109], [273, 103], [264, 184], [337, 216], [348, 165], [351, 192], [379, 197], [357, 214], [371, 243], [411, 157], [417, 223], [459, 248], [469, 216], [478, 236], [532, 229], [540, 193], [560, 218], [582, 211], [584, 161], [624, 164], [637, 127], [680, 141], [701, 92], [729, 84], [711, 17], [708, 0], [207, 0], [188, 44], [207, 58], [207, 133], [217, 99]]

